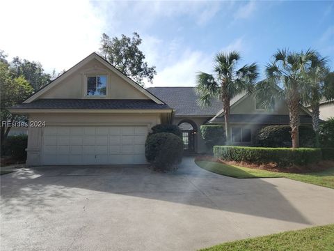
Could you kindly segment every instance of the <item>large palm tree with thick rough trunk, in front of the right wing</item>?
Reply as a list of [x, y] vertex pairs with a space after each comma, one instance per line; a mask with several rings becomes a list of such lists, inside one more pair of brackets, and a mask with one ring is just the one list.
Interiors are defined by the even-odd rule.
[[317, 53], [312, 50], [295, 53], [278, 50], [273, 61], [267, 64], [264, 81], [257, 84], [255, 98], [269, 106], [275, 98], [285, 99], [289, 109], [289, 126], [291, 127], [292, 147], [299, 147], [299, 113], [301, 105], [309, 98], [309, 82], [305, 81]]

